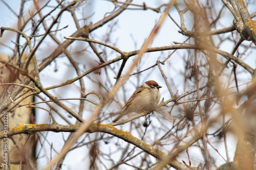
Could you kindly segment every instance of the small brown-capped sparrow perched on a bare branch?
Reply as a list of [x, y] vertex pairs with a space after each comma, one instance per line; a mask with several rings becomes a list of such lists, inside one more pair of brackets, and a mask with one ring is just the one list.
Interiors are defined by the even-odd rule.
[[125, 103], [124, 107], [118, 112], [119, 115], [113, 120], [117, 122], [122, 116], [131, 112], [141, 113], [153, 112], [160, 100], [160, 92], [157, 82], [154, 80], [143, 83], [137, 90], [134, 91], [131, 98]]

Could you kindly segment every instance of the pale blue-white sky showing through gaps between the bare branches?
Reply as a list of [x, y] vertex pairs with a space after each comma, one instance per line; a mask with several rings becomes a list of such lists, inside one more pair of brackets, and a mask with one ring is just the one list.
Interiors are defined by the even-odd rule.
[[[150, 7], [158, 7], [160, 4], [163, 3], [167, 3], [169, 1], [146, 1], [146, 5], [150, 6]], [[15, 1], [15, 3], [13, 3], [13, 1], [8, 1], [7, 2], [12, 9], [16, 9], [15, 11], [18, 13], [19, 11], [19, 5], [20, 5], [20, 1]], [[53, 6], [56, 5], [55, 1], [52, 1]], [[142, 1], [134, 1], [133, 3], [135, 4], [142, 4]], [[26, 3], [27, 5], [25, 6], [25, 9], [31, 9], [32, 6], [32, 1], [29, 1], [28, 3]], [[217, 6], [222, 6], [221, 1], [216, 2]], [[97, 22], [100, 19], [102, 19], [102, 17], [105, 15], [106, 12], [111, 12], [114, 9], [113, 3], [110, 3], [108, 1], [88, 1], [88, 6], [87, 8], [83, 8], [80, 9], [80, 17], [84, 17], [84, 16], [90, 16], [92, 15], [92, 17], [90, 17], [87, 21], [80, 21], [80, 26], [83, 26], [83, 22], [84, 23], [89, 23], [89, 22]], [[249, 6], [249, 12], [251, 13], [253, 10], [255, 11], [255, 6]], [[51, 8], [48, 8], [48, 10], [51, 10]], [[161, 9], [163, 11], [163, 9]], [[47, 11], [42, 11], [44, 14], [47, 13]], [[26, 14], [28, 14], [26, 12]], [[56, 13], [55, 13], [56, 14]], [[178, 21], [178, 23], [180, 23], [179, 21], [179, 16], [178, 13], [176, 12], [176, 10], [172, 9], [170, 10], [170, 14], [172, 15], [172, 17], [176, 18], [176, 21]], [[13, 28], [17, 22], [17, 18], [10, 12], [10, 10], [8, 8], [6, 8], [2, 2], [0, 2], [0, 15], [2, 16], [3, 19], [0, 19], [0, 27], [11, 27]], [[222, 20], [222, 25], [220, 26], [220, 28], [224, 28], [224, 27], [228, 27], [232, 24], [232, 15], [230, 13], [224, 13], [225, 16], [225, 20]], [[118, 47], [120, 50], [122, 51], [126, 51], [126, 52], [130, 52], [130, 51], [134, 51], [134, 50], [138, 50], [140, 49], [140, 47], [142, 46], [144, 40], [148, 37], [148, 35], [150, 35], [152, 29], [154, 28], [156, 22], [158, 21], [158, 19], [160, 18], [161, 13], [156, 13], [154, 11], [151, 10], [127, 10], [124, 11], [123, 13], [121, 13], [116, 19], [114, 19], [113, 21], [118, 21], [117, 25], [115, 26], [115, 31], [113, 33], [113, 36], [111, 36], [112, 42], [116, 43], [116, 47]], [[189, 14], [186, 15], [185, 18], [185, 25], [188, 26], [188, 29], [191, 29], [191, 27], [193, 26], [193, 22], [192, 22], [193, 17]], [[104, 37], [106, 33], [108, 33], [108, 30], [111, 24], [113, 25], [113, 21], [110, 21], [108, 24], [104, 25], [103, 27], [97, 29], [96, 31], [93, 32], [93, 34], [91, 35], [93, 39], [96, 40], [101, 40], [101, 37]], [[70, 13], [66, 13], [65, 15], [63, 15], [60, 19], [60, 23], [59, 23], [59, 28], [65, 27], [68, 25], [68, 28], [61, 30], [60, 32], [58, 32], [57, 37], [62, 40], [65, 41], [65, 39], [63, 38], [63, 36], [70, 36], [73, 32], [75, 32], [76, 28], [75, 25], [71, 19]], [[189, 28], [190, 26], [190, 28]], [[56, 28], [56, 27], [55, 27]], [[164, 45], [173, 45], [173, 41], [177, 41], [177, 42], [182, 42], [184, 41], [187, 37], [185, 36], [181, 36], [180, 33], [178, 33], [179, 29], [178, 27], [174, 24], [174, 22], [170, 21], [170, 19], [167, 19], [162, 28], [160, 29], [159, 33], [157, 34], [157, 36], [155, 37], [151, 47], [156, 47], [156, 46], [164, 46]], [[40, 30], [41, 33], [44, 33], [44, 30]], [[4, 34], [4, 37], [0, 39], [0, 42], [9, 42], [10, 45], [13, 45], [10, 42], [10, 38], [15, 39], [15, 34], [6, 31]], [[47, 38], [48, 41], [45, 41], [45, 43], [43, 43], [40, 46], [39, 51], [36, 53], [36, 57], [38, 62], [40, 63], [40, 61], [44, 58], [46, 58], [47, 56], [49, 56], [54, 49], [57, 47], [56, 44], [52, 43], [51, 38]], [[136, 44], [134, 43], [136, 41]], [[218, 43], [218, 42], [216, 42]], [[72, 43], [72, 45], [68, 48], [68, 50], [72, 53], [72, 52], [76, 52], [79, 50], [82, 50], [84, 47], [86, 47], [88, 44], [87, 42], [82, 42], [82, 41], [76, 41], [74, 43]], [[230, 45], [228, 43], [224, 43], [222, 44], [222, 46], [220, 46], [220, 48], [224, 48], [225, 51], [230, 52], [233, 48], [233, 45]], [[140, 65], [140, 70], [147, 68], [150, 65], [155, 64], [156, 58], [164, 59], [169, 53], [171, 53], [172, 51], [168, 51], [168, 52], [154, 52], [151, 54], [144, 54], [144, 58], [146, 58], [145, 60], [142, 60], [142, 63]], [[171, 60], [172, 63], [170, 63], [171, 66], [173, 67], [163, 67], [164, 71], [167, 72], [167, 77], [168, 80], [170, 81], [169, 83], [174, 82], [175, 84], [171, 84], [172, 86], [172, 90], [174, 92], [176, 92], [176, 90], [179, 90], [179, 93], [184, 92], [183, 90], [183, 77], [182, 75], [178, 74], [180, 71], [180, 69], [183, 68], [183, 61], [182, 61], [182, 56], [185, 55], [184, 54], [185, 50], [179, 50], [179, 52], [177, 52], [174, 56], [172, 56]], [[0, 53], [7, 53], [11, 55], [11, 51], [10, 50], [6, 50], [6, 47], [0, 46]], [[108, 56], [109, 59], [114, 59], [116, 57], [118, 57], [119, 55], [117, 53], [113, 53], [112, 56]], [[253, 53], [251, 53], [250, 55], [251, 57], [255, 57], [255, 51]], [[81, 65], [86, 65], [87, 68], [84, 68], [84, 70], [90, 68], [90, 66], [92, 66], [93, 64], [97, 63], [97, 60], [95, 60], [95, 56], [92, 55], [92, 53], [90, 52], [86, 52], [84, 55], [79, 56], [79, 55], [73, 55], [74, 59], [80, 63]], [[252, 68], [255, 68], [255, 60], [254, 59], [250, 59], [250, 57], [248, 57], [247, 59], [247, 64], [249, 64]], [[121, 63], [121, 61], [120, 61]], [[60, 71], [54, 71], [55, 69], [58, 69]], [[126, 65], [126, 68], [128, 68], [128, 66]], [[145, 72], [146, 73], [146, 72]], [[110, 73], [111, 74], [111, 73]], [[102, 75], [96, 75], [96, 74], [92, 74], [92, 76], [94, 76], [95, 79], [99, 80], [99, 81], [104, 81], [104, 74]], [[113, 74], [113, 77], [115, 75]], [[245, 76], [248, 76], [247, 74], [245, 74]], [[56, 59], [56, 64], [51, 64], [49, 65], [47, 68], [45, 68], [44, 70], [42, 70], [42, 72], [40, 72], [40, 79], [41, 82], [43, 83], [43, 85], [45, 87], [48, 86], [52, 86], [52, 85], [56, 85], [62, 82], [65, 82], [68, 79], [74, 78], [76, 77], [76, 73], [74, 71], [74, 69], [71, 67], [71, 65], [69, 65], [69, 61], [65, 58], [65, 57], [58, 57]], [[142, 75], [143, 77], [143, 75]], [[131, 81], [132, 81], [132, 77], [129, 79], [130, 81], [127, 81], [127, 83], [125, 84], [127, 92], [125, 93], [126, 95], [126, 99], [128, 99], [130, 97], [130, 95], [132, 94], [132, 92], [135, 90], [134, 85], [131, 85]], [[153, 71], [152, 75], [148, 78], [148, 80], [156, 80], [160, 85], [164, 86], [164, 81], [161, 77], [160, 71], [158, 69], [155, 69], [155, 71]], [[244, 77], [244, 79], [250, 79], [250, 77]], [[89, 79], [84, 78], [84, 81], [87, 82], [89, 81]], [[113, 83], [115, 82], [115, 79], [113, 79]], [[143, 79], [141, 79], [140, 84], [143, 83]], [[97, 89], [95, 89], [95, 86], [92, 84], [88, 84], [87, 85], [87, 91], [86, 92], [90, 92], [90, 91], [97, 91]], [[80, 96], [80, 92], [79, 92], [79, 83], [76, 82], [75, 84], [72, 85], [67, 85], [58, 89], [53, 89], [51, 90], [52, 93], [54, 93], [55, 95], [61, 97], [61, 98], [75, 98], [75, 97], [79, 97]], [[161, 88], [160, 89], [161, 95], [162, 97], [164, 97], [165, 100], [169, 99], [170, 96], [168, 94], [168, 90], [167, 88]], [[123, 101], [124, 103], [124, 101]], [[67, 102], [66, 103], [68, 106], [70, 107], [74, 107], [74, 105], [79, 104], [78, 101], [72, 101], [72, 102]], [[40, 105], [40, 106], [44, 106], [44, 105]], [[77, 111], [77, 107], [74, 107], [74, 109]], [[93, 110], [93, 106], [91, 108]], [[66, 114], [66, 116], [68, 117], [68, 114]], [[90, 115], [88, 115], [90, 116]], [[44, 111], [40, 111], [37, 113], [36, 115], [36, 120], [37, 123], [49, 123], [49, 115], [47, 112]], [[73, 123], [75, 122], [75, 119], [71, 119], [73, 121]], [[141, 121], [143, 120], [143, 118], [140, 119]], [[62, 120], [57, 118], [57, 122], [59, 124], [64, 123], [62, 122]], [[107, 122], [106, 122], [107, 123]], [[125, 129], [125, 128], [129, 128], [129, 126], [122, 126], [121, 128]], [[43, 133], [45, 135], [47, 135], [48, 141], [52, 142], [54, 145], [54, 148], [56, 149], [57, 152], [59, 152], [62, 149], [63, 146], [63, 140], [62, 140], [62, 135], [63, 133], [54, 133], [54, 132], [45, 132]], [[64, 133], [65, 134], [65, 133]], [[92, 137], [95, 134], [92, 134]], [[136, 136], [136, 134], [133, 134]], [[65, 134], [64, 136], [67, 136], [67, 134]], [[230, 135], [230, 137], [232, 137]], [[101, 143], [102, 142], [102, 143]], [[104, 144], [103, 141], [100, 142], [100, 149], [104, 149]], [[232, 159], [232, 154], [235, 151], [235, 146], [236, 146], [236, 141], [235, 140], [229, 140], [229, 145], [228, 145], [228, 149], [230, 152], [230, 158]], [[223, 148], [223, 143], [220, 143], [219, 145], [217, 144], [217, 147], [219, 147], [219, 151], [221, 153], [221, 151], [223, 151], [223, 154], [225, 152], [225, 149]], [[108, 147], [105, 147], [106, 152], [108, 150]], [[45, 151], [50, 151], [50, 145], [45, 147]], [[88, 149], [86, 147], [82, 147], [79, 148], [77, 150], [75, 150], [74, 152], [71, 152], [67, 155], [62, 169], [66, 170], [66, 169], [81, 169], [81, 167], [87, 167], [89, 165], [89, 157], [88, 157]], [[191, 152], [191, 151], [190, 151]], [[193, 152], [193, 151], [192, 151]], [[211, 151], [211, 152], [215, 152], [215, 151]], [[195, 155], [197, 155], [197, 150], [195, 149]], [[53, 153], [53, 155], [55, 155], [55, 153]], [[217, 154], [216, 154], [217, 155]], [[225, 155], [225, 154], [224, 154]], [[219, 164], [223, 164], [225, 163], [225, 161], [221, 158], [219, 158], [218, 156], [216, 157], [216, 159], [219, 161], [217, 161]], [[198, 155], [198, 161], [202, 160], [201, 155]], [[45, 158], [40, 158], [38, 159], [38, 164], [39, 167], [44, 166], [46, 163], [48, 162], [47, 159]], [[85, 168], [86, 169], [86, 168]], [[129, 167], [127, 167], [127, 169], [129, 169]]]

